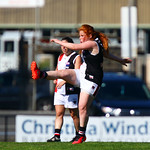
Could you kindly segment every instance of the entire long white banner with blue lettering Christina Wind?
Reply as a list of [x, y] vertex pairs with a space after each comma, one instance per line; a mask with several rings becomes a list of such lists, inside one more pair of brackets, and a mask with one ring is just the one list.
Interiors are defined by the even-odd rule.
[[[46, 142], [54, 135], [55, 116], [16, 117], [16, 142]], [[64, 117], [61, 141], [75, 136], [72, 118]], [[150, 142], [150, 117], [90, 117], [86, 141]]]

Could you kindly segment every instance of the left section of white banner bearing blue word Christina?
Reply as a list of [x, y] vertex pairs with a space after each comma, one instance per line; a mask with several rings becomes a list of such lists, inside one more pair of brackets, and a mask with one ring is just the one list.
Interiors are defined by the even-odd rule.
[[[87, 128], [87, 141], [99, 141], [99, 120], [90, 118]], [[54, 135], [55, 116], [24, 116], [16, 117], [16, 142], [46, 142]], [[73, 120], [64, 117], [61, 141], [71, 141], [75, 136]]]

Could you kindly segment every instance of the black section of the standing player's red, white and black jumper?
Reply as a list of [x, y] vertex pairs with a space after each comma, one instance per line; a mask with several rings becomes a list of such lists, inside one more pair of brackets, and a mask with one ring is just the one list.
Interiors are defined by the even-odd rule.
[[[68, 63], [66, 65], [66, 69], [74, 69], [74, 59], [77, 57], [77, 53], [73, 54], [70, 59], [68, 60]], [[66, 95], [70, 94], [79, 94], [80, 88], [74, 87], [73, 85], [66, 83]]]

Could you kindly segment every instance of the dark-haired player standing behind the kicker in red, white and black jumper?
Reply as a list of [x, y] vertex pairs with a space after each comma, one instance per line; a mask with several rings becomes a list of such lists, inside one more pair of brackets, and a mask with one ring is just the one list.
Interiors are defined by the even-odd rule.
[[[70, 37], [65, 37], [62, 39], [62, 42], [73, 43], [73, 40]], [[80, 55], [64, 46], [61, 46], [61, 50], [63, 53], [58, 57], [56, 70], [79, 69], [82, 63]], [[60, 141], [63, 116], [66, 108], [69, 109], [73, 119], [76, 134], [79, 131], [78, 98], [80, 88], [66, 83], [63, 79], [56, 79], [54, 83], [56, 84], [54, 93], [54, 105], [56, 110], [55, 133], [47, 142]]]

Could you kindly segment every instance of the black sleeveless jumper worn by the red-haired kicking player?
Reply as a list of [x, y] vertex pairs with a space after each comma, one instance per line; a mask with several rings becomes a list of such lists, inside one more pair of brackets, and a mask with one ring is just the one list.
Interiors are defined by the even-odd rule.
[[99, 53], [92, 55], [88, 50], [83, 50], [83, 59], [87, 65], [85, 79], [101, 85], [103, 78], [103, 46], [101, 41], [96, 38]]

